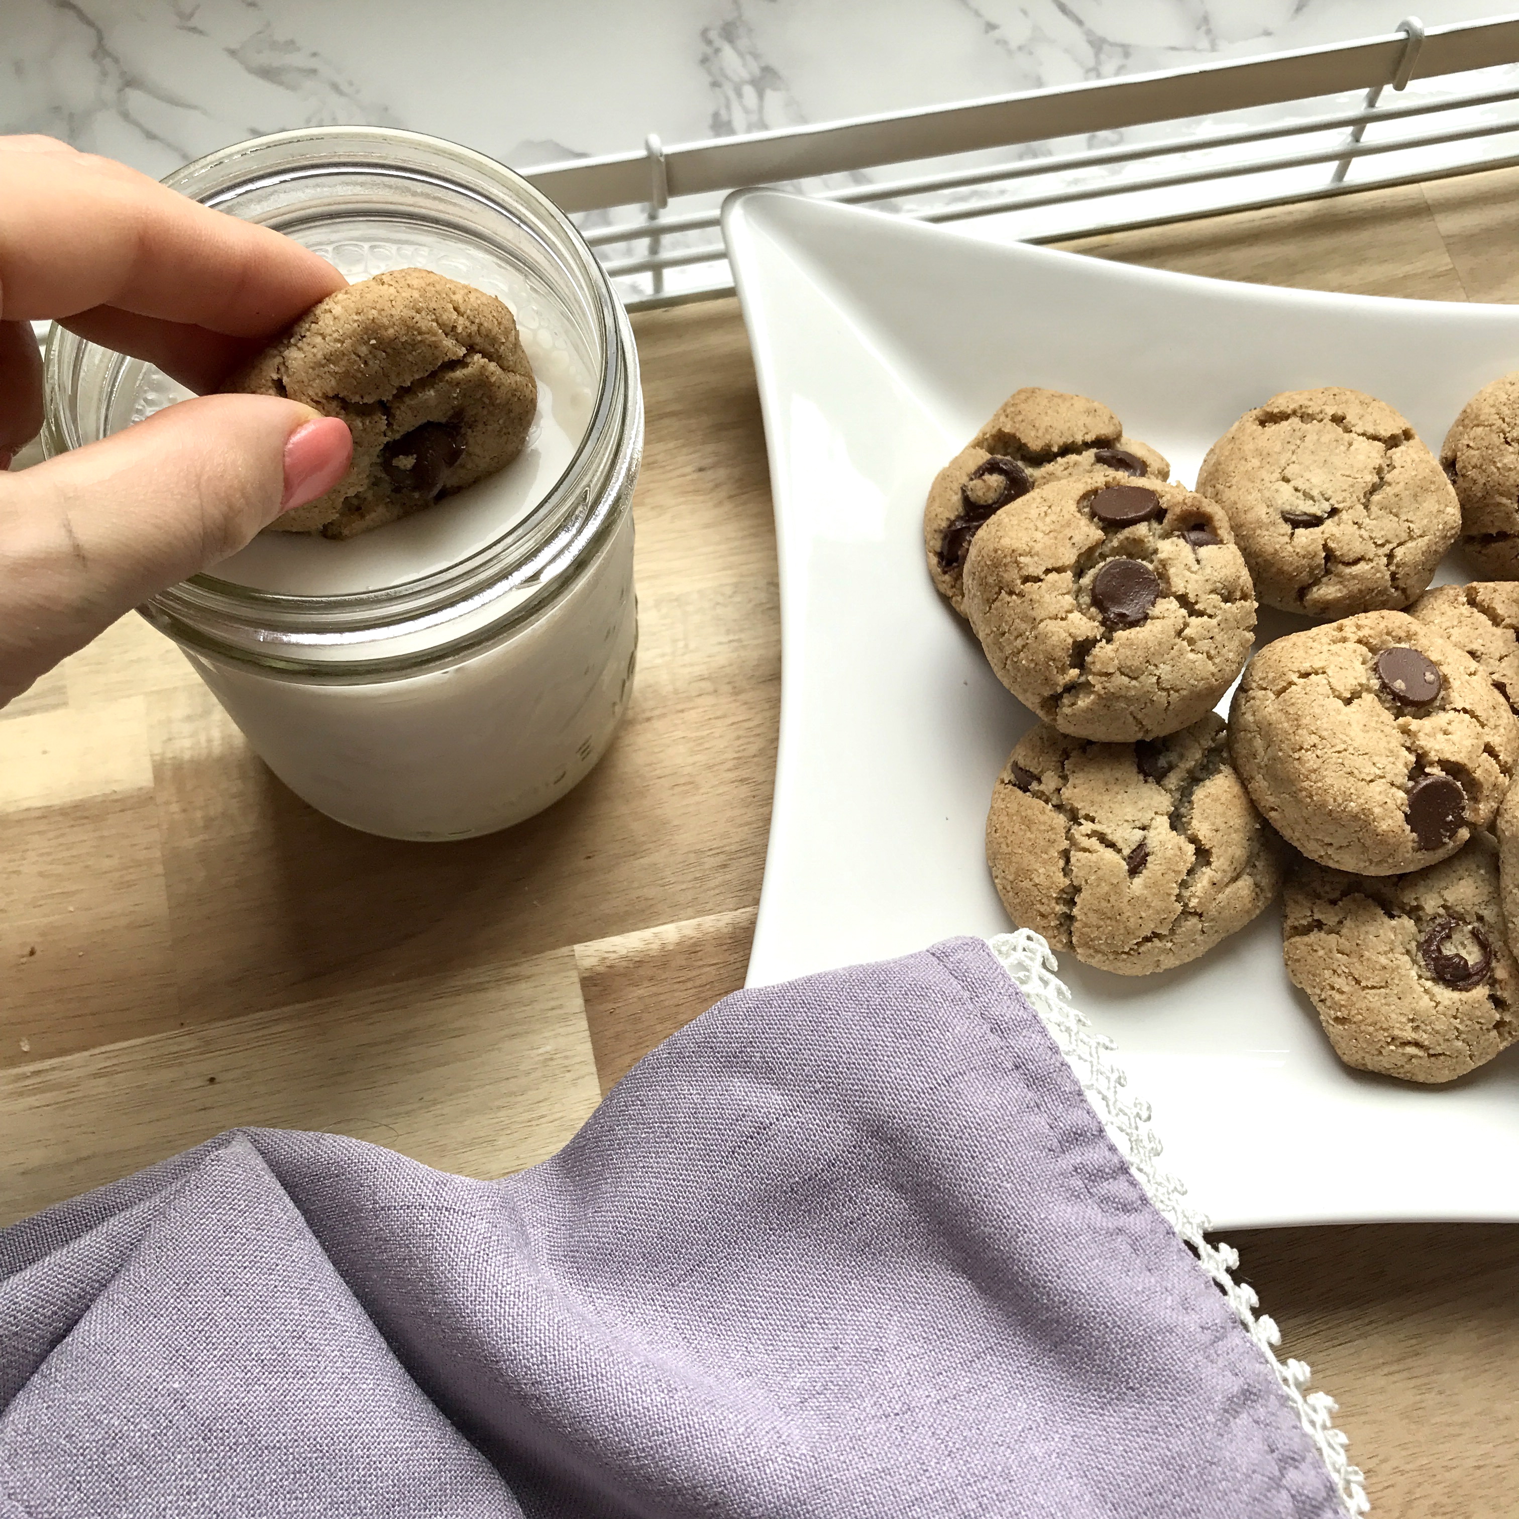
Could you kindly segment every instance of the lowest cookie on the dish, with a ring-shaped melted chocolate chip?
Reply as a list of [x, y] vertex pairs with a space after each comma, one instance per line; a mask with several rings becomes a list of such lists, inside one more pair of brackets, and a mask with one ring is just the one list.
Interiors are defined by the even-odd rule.
[[1299, 861], [1287, 878], [1282, 957], [1335, 1054], [1361, 1071], [1454, 1082], [1519, 1031], [1519, 966], [1483, 835], [1413, 875]]

